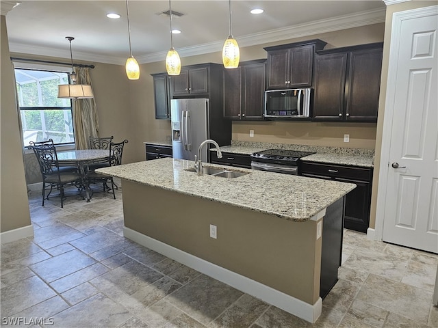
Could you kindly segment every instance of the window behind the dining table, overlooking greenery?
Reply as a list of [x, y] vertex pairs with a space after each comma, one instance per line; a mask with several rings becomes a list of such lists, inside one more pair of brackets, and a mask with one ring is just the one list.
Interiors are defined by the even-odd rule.
[[24, 146], [48, 139], [74, 143], [71, 100], [57, 98], [57, 85], [68, 84], [68, 73], [16, 68], [15, 79]]

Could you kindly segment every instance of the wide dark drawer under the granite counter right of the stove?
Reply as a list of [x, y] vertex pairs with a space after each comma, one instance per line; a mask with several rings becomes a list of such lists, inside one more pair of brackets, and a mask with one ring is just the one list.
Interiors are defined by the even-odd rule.
[[323, 163], [302, 162], [301, 172], [316, 176], [329, 176], [333, 178], [347, 178], [352, 180], [370, 181], [372, 169], [368, 167], [350, 167], [344, 165], [331, 165]]

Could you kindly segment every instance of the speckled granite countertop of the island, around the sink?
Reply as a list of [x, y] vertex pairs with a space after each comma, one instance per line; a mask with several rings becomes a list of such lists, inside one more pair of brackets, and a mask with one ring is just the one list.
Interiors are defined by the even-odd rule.
[[[205, 166], [230, 169], [209, 163]], [[233, 168], [248, 172], [238, 178], [197, 176], [186, 171], [193, 167], [193, 161], [166, 158], [104, 167], [96, 172], [298, 222], [311, 219], [356, 187], [252, 169]]]

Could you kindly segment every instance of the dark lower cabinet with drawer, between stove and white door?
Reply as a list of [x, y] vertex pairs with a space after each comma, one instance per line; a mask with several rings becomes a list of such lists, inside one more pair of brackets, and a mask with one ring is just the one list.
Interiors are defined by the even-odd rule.
[[356, 184], [345, 197], [344, 228], [367, 232], [370, 226], [372, 167], [302, 162], [301, 175]]

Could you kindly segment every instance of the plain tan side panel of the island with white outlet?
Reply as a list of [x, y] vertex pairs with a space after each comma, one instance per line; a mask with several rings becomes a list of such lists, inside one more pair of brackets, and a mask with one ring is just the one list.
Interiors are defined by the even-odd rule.
[[[316, 221], [294, 222], [123, 180], [125, 226], [313, 305], [320, 296]], [[218, 238], [209, 236], [217, 226]]]

